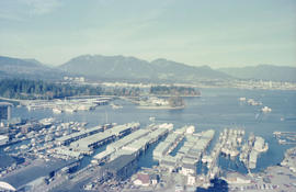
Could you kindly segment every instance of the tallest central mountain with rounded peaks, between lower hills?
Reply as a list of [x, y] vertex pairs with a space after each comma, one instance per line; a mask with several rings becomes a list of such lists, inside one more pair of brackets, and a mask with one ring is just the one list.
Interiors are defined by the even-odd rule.
[[157, 59], [151, 63], [135, 57], [83, 55], [59, 67], [65, 72], [80, 74], [94, 79], [141, 79], [189, 82], [202, 79], [227, 79], [230, 76], [207, 66], [193, 67]]

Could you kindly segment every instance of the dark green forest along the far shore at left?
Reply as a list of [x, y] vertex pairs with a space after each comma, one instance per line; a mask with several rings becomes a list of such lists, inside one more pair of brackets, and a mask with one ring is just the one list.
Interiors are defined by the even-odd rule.
[[41, 80], [4, 79], [0, 81], [0, 95], [10, 99], [61, 99], [73, 95], [138, 95], [137, 89], [109, 89], [92, 86], [70, 86]]

